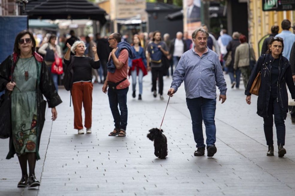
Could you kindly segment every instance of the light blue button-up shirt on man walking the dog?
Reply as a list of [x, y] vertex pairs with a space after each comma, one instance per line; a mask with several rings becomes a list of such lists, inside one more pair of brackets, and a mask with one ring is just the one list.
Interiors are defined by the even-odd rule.
[[221, 95], [226, 95], [226, 82], [218, 55], [207, 47], [200, 57], [194, 48], [182, 54], [173, 73], [171, 88], [177, 91], [184, 81], [187, 98], [216, 99], [216, 86]]

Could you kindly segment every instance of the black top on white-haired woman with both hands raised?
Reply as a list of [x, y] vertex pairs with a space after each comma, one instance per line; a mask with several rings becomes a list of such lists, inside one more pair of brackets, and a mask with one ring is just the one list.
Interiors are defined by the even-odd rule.
[[63, 59], [66, 65], [69, 65], [72, 58], [74, 58], [73, 62], [73, 70], [74, 70], [74, 79], [73, 82], [80, 81], [91, 81], [92, 75], [91, 71], [93, 69], [98, 69], [100, 67], [100, 61], [94, 61], [90, 57], [77, 57], [70, 56], [69, 60]]

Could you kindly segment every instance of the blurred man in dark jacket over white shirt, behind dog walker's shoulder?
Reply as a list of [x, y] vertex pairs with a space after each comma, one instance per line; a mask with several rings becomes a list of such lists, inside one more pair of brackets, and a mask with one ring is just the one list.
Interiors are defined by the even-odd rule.
[[[176, 38], [170, 42], [169, 56], [173, 58], [173, 65], [176, 67], [181, 55], [187, 51], [186, 42], [182, 39], [182, 33], [177, 32]], [[173, 66], [171, 67], [171, 75], [173, 75]]]

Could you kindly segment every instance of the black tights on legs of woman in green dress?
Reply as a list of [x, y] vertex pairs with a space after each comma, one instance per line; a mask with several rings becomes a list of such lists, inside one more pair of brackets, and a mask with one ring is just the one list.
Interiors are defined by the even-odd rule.
[[22, 169], [22, 175], [27, 175], [27, 162], [29, 164], [29, 174], [35, 175], [35, 165], [36, 165], [36, 153], [27, 153], [24, 155], [21, 155], [19, 158], [19, 165]]

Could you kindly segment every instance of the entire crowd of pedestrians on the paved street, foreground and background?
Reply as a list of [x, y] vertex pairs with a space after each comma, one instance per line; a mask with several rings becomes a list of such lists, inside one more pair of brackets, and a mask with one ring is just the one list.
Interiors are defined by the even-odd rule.
[[[38, 148], [46, 106], [43, 95], [52, 108], [52, 120], [57, 118], [55, 107], [62, 102], [58, 95], [58, 75], [51, 73], [57, 58], [63, 58], [65, 67], [72, 68], [73, 127], [78, 134], [84, 134], [83, 127], [86, 133], [92, 132], [93, 82], [100, 80], [103, 84], [102, 92], [108, 95], [114, 119], [114, 129], [109, 136], [118, 137], [125, 137], [127, 132], [128, 76], [132, 80], [133, 98], [137, 95], [138, 80], [138, 100], [143, 99], [143, 77], [148, 72], [152, 75], [152, 95], [156, 98], [159, 94], [161, 100], [164, 100], [163, 76], [172, 76], [168, 90], [170, 97], [184, 82], [196, 142], [195, 156], [203, 156], [207, 150], [207, 156], [213, 157], [217, 152], [214, 120], [216, 86], [220, 91], [219, 101], [223, 104], [227, 92], [224, 73], [229, 74], [231, 88], [237, 89], [240, 88], [242, 75], [247, 104], [251, 104], [252, 84], [256, 76], [261, 74], [257, 114], [264, 120], [267, 156], [274, 155], [274, 121], [278, 155], [283, 157], [286, 154], [284, 120], [288, 113], [286, 85], [292, 99], [295, 99], [295, 35], [289, 31], [290, 28], [291, 22], [288, 20], [282, 22], [283, 31], [280, 34], [279, 27], [272, 26], [272, 34], [264, 41], [263, 52], [257, 62], [254, 49], [245, 35], [234, 32], [229, 36], [226, 30], [222, 30], [216, 40], [206, 25], [193, 31], [192, 39], [187, 32], [177, 32], [172, 40], [169, 34], [164, 34], [162, 41], [161, 32], [154, 31], [148, 37], [143, 32], [135, 34], [131, 43], [128, 43], [127, 35], [121, 36], [119, 33], [110, 34], [109, 37], [96, 34], [95, 40], [86, 37], [84, 42], [71, 30], [71, 37], [63, 45], [57, 44], [57, 37], [51, 35], [48, 42], [39, 48], [38, 52], [44, 55], [44, 60], [35, 51], [33, 34], [30, 31], [20, 32], [15, 39], [13, 54], [0, 66], [0, 91], [4, 90], [11, 96], [12, 134], [7, 159], [14, 154], [19, 158], [22, 178], [18, 187], [40, 186], [34, 168], [36, 160], [40, 159]], [[256, 62], [254, 68], [251, 67], [251, 61]], [[289, 110], [292, 123], [295, 124], [295, 107]], [[206, 142], [202, 122], [205, 124]]]

